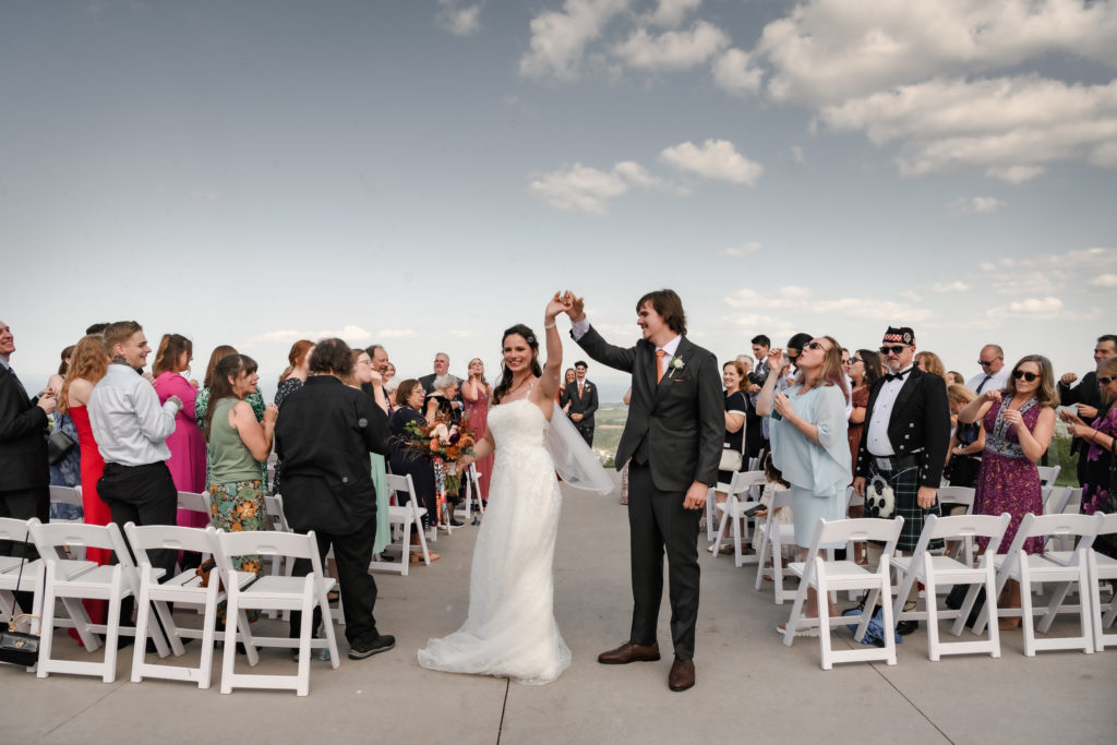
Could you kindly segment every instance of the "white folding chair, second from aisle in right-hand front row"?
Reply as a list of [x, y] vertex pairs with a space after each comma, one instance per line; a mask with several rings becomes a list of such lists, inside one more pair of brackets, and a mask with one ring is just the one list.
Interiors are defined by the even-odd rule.
[[[989, 652], [990, 657], [1001, 656], [1001, 639], [995, 623], [989, 625], [987, 640], [944, 643], [938, 638], [938, 620], [941, 618], [956, 619], [951, 633], [955, 637], [960, 636], [965, 628], [966, 619], [970, 618], [970, 611], [982, 585], [985, 586], [986, 602], [995, 609], [996, 574], [990, 557], [996, 555], [996, 548], [1001, 545], [1001, 538], [1004, 537], [1004, 532], [1011, 519], [1012, 516], [1009, 513], [1002, 513], [999, 517], [992, 515], [955, 515], [953, 517], [930, 515], [923, 525], [919, 543], [916, 544], [911, 555], [892, 556], [892, 567], [900, 576], [892, 618], [897, 622], [905, 620], [925, 620], [927, 622], [927, 656], [932, 661], [937, 662], [942, 655]], [[927, 546], [935, 539], [955, 538], [958, 543], [972, 543], [978, 536], [989, 538], [989, 547], [977, 566], [960, 562], [951, 556], [934, 555], [927, 551]], [[904, 602], [916, 581], [923, 582], [926, 588], [924, 598], [926, 610], [904, 611]], [[970, 585], [962, 609], [956, 611], [939, 610], [939, 589], [948, 590], [955, 584]]]

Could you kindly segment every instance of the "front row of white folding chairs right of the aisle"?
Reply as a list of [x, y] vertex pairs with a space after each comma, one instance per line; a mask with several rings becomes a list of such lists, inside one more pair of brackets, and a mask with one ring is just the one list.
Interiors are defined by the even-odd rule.
[[[774, 505], [773, 505], [774, 506]], [[859, 660], [884, 660], [896, 663], [895, 637], [891, 630], [901, 620], [924, 620], [927, 624], [927, 652], [937, 661], [944, 655], [989, 653], [1001, 656], [997, 619], [1020, 617], [1024, 636], [1024, 655], [1034, 657], [1037, 651], [1052, 649], [1081, 649], [1086, 653], [1102, 651], [1117, 646], [1117, 633], [1106, 633], [1106, 629], [1117, 621], [1117, 593], [1102, 605], [1100, 584], [1117, 580], [1117, 560], [1100, 554], [1092, 548], [1098, 535], [1117, 534], [1117, 515], [1032, 515], [1024, 516], [1009, 550], [996, 553], [1011, 516], [956, 515], [927, 518], [919, 543], [910, 555], [897, 555], [896, 543], [903, 527], [903, 518], [891, 520], [859, 518], [827, 522], [820, 520], [814, 541], [804, 562], [789, 564], [791, 573], [801, 579], [791, 617], [786, 624], [784, 643], [791, 646], [796, 629], [818, 627], [822, 668], [831, 669], [834, 662]], [[985, 552], [973, 561], [973, 542], [977, 537], [987, 539]], [[1073, 547], [1066, 551], [1048, 548], [1042, 554], [1028, 554], [1023, 547], [1029, 538], [1061, 538]], [[852, 541], [876, 541], [885, 544], [880, 563], [876, 570], [851, 561], [824, 561], [822, 546]], [[935, 541], [944, 541], [956, 551], [929, 551]], [[891, 572], [899, 576], [895, 601], [891, 598]], [[1021, 585], [1021, 608], [999, 609], [996, 599], [1009, 580]], [[905, 602], [911, 586], [919, 582], [925, 586], [924, 609], [905, 611]], [[1033, 609], [1033, 588], [1041, 583], [1053, 583], [1056, 589], [1046, 608]], [[970, 585], [962, 608], [939, 609], [938, 595], [956, 584]], [[1072, 585], [1077, 585], [1079, 602], [1065, 601]], [[814, 588], [819, 596], [819, 618], [803, 619], [801, 613], [809, 588]], [[961, 636], [971, 611], [977, 602], [980, 590], [985, 591], [985, 603], [980, 612], [973, 632], [982, 636], [987, 627], [987, 639], [976, 641], [943, 642], [939, 638], [939, 620], [954, 619], [951, 633]], [[841, 590], [867, 591], [868, 595], [859, 615], [829, 618], [825, 598]], [[878, 601], [879, 596], [879, 601]], [[858, 623], [855, 639], [860, 641], [868, 628], [875, 606], [881, 606], [882, 625], [886, 629], [885, 646], [881, 649], [862, 648], [853, 650], [832, 649], [830, 629], [834, 625]], [[1037, 639], [1035, 632], [1047, 633], [1056, 615], [1073, 612], [1079, 615], [1080, 633], [1067, 637]], [[1042, 613], [1039, 625], [1034, 615]]]

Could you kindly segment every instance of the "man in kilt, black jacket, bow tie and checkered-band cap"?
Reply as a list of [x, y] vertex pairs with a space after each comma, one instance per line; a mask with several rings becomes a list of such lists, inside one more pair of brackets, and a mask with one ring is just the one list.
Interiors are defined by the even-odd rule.
[[[911, 364], [915, 332], [889, 326], [880, 356], [889, 372], [869, 391], [853, 490], [865, 497], [866, 517], [904, 518], [896, 548], [910, 553], [927, 515], [941, 514], [935, 495], [949, 447], [951, 410], [943, 379]], [[869, 565], [876, 566], [881, 547], [870, 543], [868, 548]], [[908, 601], [917, 596], [913, 583]], [[897, 631], [917, 627], [918, 621], [901, 621]]]

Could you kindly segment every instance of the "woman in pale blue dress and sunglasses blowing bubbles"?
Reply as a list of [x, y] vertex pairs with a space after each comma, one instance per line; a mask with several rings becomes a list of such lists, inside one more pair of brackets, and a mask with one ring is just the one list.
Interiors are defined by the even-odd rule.
[[[768, 353], [770, 370], [782, 371], [785, 364], [780, 350]], [[846, 419], [841, 345], [831, 336], [811, 340], [795, 365], [799, 375], [785, 393], [775, 392], [775, 381], [780, 375], [768, 375], [756, 401], [756, 412], [770, 417], [772, 462], [783, 474], [784, 480], [791, 484], [795, 543], [802, 547], [803, 558], [806, 558], [819, 519], [839, 520], [846, 517], [846, 487], [850, 474], [849, 422]], [[837, 614], [837, 609], [831, 608], [830, 617]], [[806, 615], [818, 615], [813, 590], [808, 593]], [[783, 627], [777, 630], [783, 633]]]

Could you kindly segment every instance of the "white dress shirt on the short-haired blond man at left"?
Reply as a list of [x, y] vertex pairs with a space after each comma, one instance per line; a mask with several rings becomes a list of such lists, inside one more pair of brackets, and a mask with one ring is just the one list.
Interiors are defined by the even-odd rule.
[[152, 384], [127, 365], [108, 365], [89, 395], [89, 424], [106, 464], [146, 466], [170, 458], [165, 440], [178, 413], [173, 401], [160, 407]]

